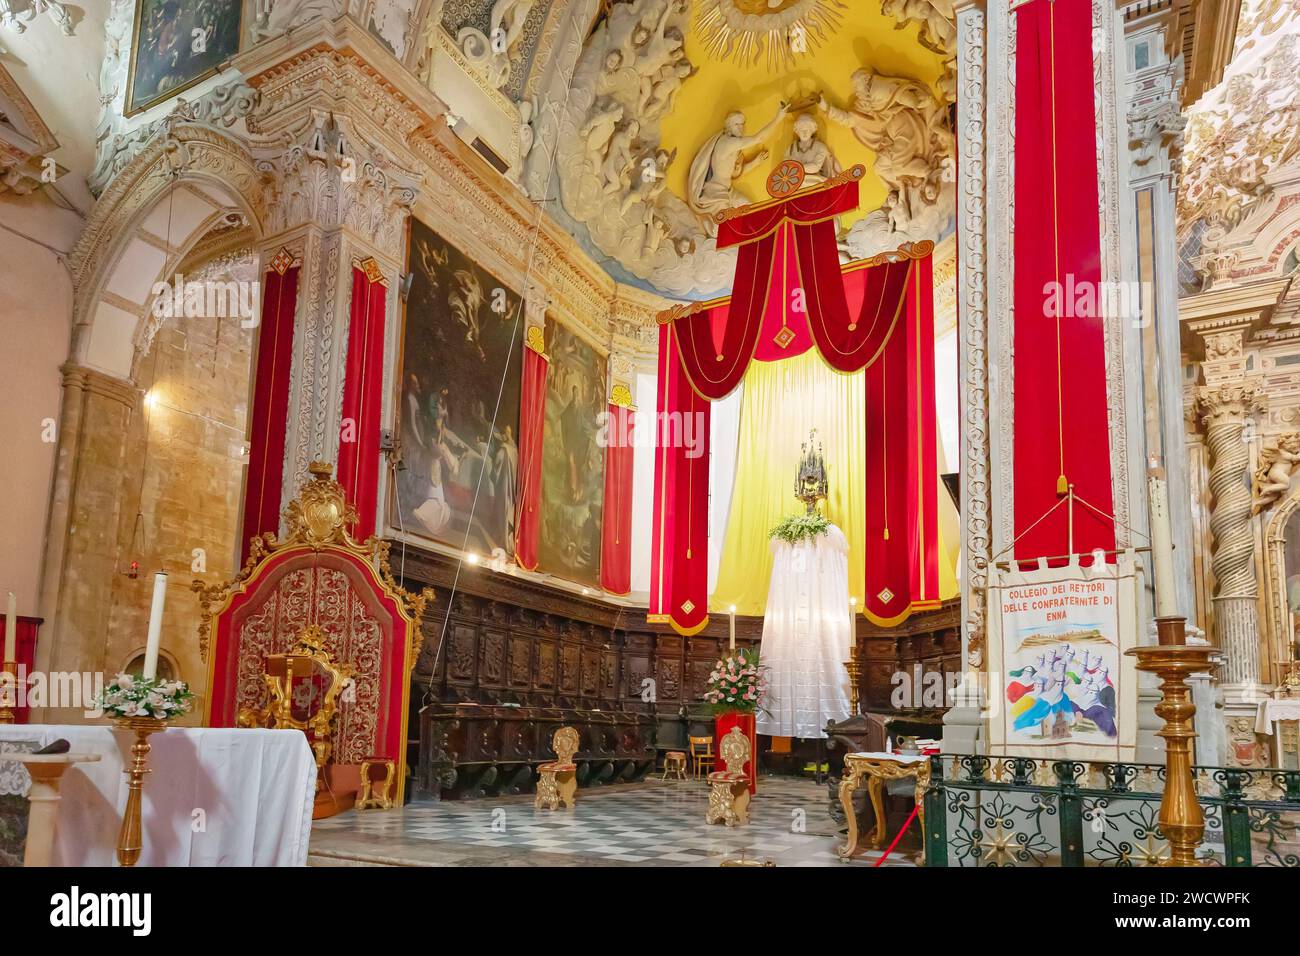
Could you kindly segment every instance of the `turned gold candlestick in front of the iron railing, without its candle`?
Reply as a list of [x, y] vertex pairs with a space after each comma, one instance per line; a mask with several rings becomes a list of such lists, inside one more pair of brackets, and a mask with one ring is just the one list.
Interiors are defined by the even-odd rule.
[[1196, 737], [1192, 717], [1196, 705], [1187, 678], [1209, 670], [1218, 649], [1184, 644], [1183, 618], [1157, 618], [1156, 631], [1160, 644], [1131, 648], [1124, 653], [1138, 658], [1138, 670], [1161, 679], [1156, 715], [1165, 722], [1157, 734], [1165, 739], [1165, 795], [1160, 801], [1160, 829], [1169, 840], [1169, 858], [1164, 865], [1199, 866], [1196, 847], [1205, 836], [1205, 814], [1196, 799], [1196, 780], [1192, 778], [1192, 740]]

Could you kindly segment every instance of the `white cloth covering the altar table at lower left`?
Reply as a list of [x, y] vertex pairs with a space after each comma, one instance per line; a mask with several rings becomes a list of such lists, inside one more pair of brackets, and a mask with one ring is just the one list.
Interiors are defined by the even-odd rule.
[[[0, 792], [30, 780], [4, 752], [66, 739], [98, 753], [64, 777], [55, 856], [64, 866], [114, 866], [135, 735], [112, 726], [0, 726]], [[304, 866], [316, 761], [296, 730], [172, 727], [150, 736], [139, 866]]]

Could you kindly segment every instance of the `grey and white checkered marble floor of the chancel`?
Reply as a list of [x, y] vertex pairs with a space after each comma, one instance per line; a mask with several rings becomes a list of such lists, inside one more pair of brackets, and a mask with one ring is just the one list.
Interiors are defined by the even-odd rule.
[[[646, 780], [580, 790], [572, 810], [534, 809], [532, 795], [348, 810], [312, 827], [313, 865], [407, 866], [718, 866], [724, 857], [777, 866], [840, 866], [844, 843], [812, 780], [764, 777], [749, 826], [705, 822], [702, 782]], [[849, 866], [870, 866], [867, 851]], [[913, 865], [896, 851], [885, 866]]]

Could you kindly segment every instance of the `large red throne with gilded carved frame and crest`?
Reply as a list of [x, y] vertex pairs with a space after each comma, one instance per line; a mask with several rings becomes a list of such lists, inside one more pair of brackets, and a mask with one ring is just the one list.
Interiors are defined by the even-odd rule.
[[233, 580], [192, 585], [208, 665], [204, 723], [303, 731], [320, 767], [317, 817], [358, 792], [400, 805], [411, 669], [433, 592], [398, 585], [387, 542], [348, 532], [356, 509], [333, 467], [309, 471], [283, 511], [282, 537], [252, 538]]

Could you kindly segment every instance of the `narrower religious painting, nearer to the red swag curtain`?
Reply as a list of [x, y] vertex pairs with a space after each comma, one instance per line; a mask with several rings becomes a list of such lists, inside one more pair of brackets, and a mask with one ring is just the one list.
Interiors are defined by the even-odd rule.
[[599, 587], [604, 449], [595, 438], [606, 411], [604, 359], [550, 316], [546, 355], [537, 564], [559, 578]]

